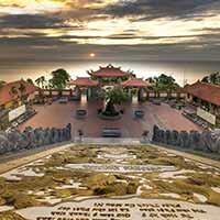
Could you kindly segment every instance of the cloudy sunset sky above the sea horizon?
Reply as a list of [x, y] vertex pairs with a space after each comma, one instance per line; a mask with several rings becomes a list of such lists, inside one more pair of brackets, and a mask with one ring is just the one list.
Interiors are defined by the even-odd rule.
[[219, 61], [219, 12], [220, 0], [0, 0], [0, 61]]

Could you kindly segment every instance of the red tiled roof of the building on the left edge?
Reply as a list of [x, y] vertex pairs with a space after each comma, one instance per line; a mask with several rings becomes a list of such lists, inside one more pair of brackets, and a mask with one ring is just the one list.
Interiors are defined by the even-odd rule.
[[[8, 103], [9, 101], [15, 100], [21, 97], [21, 91], [19, 90], [21, 84], [25, 86], [25, 90], [22, 95], [31, 95], [37, 89], [37, 87], [23, 79], [6, 84], [2, 86], [2, 88], [0, 88], [0, 105]], [[12, 94], [12, 88], [16, 90], [16, 94]]]

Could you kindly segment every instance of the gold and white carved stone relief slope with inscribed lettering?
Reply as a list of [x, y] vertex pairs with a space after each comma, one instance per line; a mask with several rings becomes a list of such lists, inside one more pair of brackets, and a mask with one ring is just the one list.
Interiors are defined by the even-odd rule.
[[220, 164], [207, 162], [153, 145], [64, 145], [0, 169], [0, 219], [218, 220]]

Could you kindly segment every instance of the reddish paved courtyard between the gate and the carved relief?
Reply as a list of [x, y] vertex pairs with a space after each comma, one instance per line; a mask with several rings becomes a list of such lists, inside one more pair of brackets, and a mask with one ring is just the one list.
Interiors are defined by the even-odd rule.
[[[81, 129], [85, 136], [99, 138], [103, 128], [120, 128], [123, 138], [140, 138], [144, 130], [152, 130], [154, 124], [163, 129], [170, 130], [197, 130], [201, 129], [182, 116], [182, 111], [170, 108], [166, 103], [155, 106], [150, 102], [145, 103], [127, 103], [121, 107], [124, 114], [118, 121], [105, 121], [98, 118], [97, 111], [101, 108], [102, 102], [94, 101], [88, 103], [68, 102], [51, 106], [35, 106], [37, 114], [23, 123], [20, 129], [26, 127], [33, 128], [63, 128], [67, 123], [73, 125], [73, 135], [77, 135], [78, 129]], [[87, 109], [88, 117], [86, 119], [77, 119], [76, 110]], [[145, 111], [144, 119], [134, 119], [134, 110], [141, 109]]]

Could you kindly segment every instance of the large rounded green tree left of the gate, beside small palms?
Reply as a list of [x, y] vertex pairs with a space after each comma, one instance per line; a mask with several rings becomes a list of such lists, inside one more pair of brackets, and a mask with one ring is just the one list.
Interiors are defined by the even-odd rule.
[[65, 69], [61, 68], [55, 72], [52, 72], [52, 79], [50, 80], [50, 84], [53, 88], [64, 89], [69, 79], [70, 75]]

